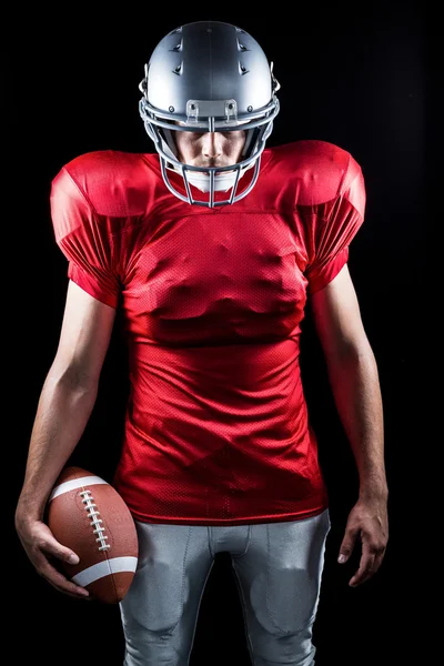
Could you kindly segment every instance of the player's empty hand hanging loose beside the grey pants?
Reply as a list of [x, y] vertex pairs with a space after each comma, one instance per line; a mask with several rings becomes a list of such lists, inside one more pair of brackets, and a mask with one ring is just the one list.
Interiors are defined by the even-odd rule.
[[361, 561], [357, 572], [349, 581], [356, 587], [369, 581], [380, 568], [389, 541], [389, 516], [386, 497], [360, 498], [349, 514], [344, 538], [337, 562], [350, 558], [356, 541], [361, 541]]

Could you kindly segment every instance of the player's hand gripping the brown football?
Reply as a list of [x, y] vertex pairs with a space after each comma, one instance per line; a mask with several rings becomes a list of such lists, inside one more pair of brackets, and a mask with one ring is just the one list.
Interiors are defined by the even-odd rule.
[[40, 576], [63, 594], [77, 599], [89, 597], [88, 589], [69, 581], [52, 564], [54, 559], [77, 564], [79, 557], [56, 539], [46, 523], [36, 518], [22, 518], [18, 512], [16, 513], [16, 529], [31, 564]]

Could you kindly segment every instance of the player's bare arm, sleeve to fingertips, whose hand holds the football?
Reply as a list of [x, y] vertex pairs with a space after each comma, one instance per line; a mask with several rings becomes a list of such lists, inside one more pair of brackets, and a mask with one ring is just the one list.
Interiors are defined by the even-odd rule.
[[28, 454], [16, 528], [38, 573], [59, 591], [88, 594], [52, 566], [50, 557], [77, 558], [42, 522], [56, 478], [78, 444], [94, 406], [115, 310], [70, 281], [54, 360], [46, 377]]

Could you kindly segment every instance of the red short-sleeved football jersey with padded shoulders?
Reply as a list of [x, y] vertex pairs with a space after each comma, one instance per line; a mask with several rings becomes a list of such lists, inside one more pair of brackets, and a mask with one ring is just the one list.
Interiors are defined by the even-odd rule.
[[323, 141], [265, 149], [252, 191], [215, 209], [172, 194], [157, 153], [91, 152], [56, 175], [68, 276], [123, 311], [130, 396], [113, 484], [134, 518], [238, 525], [327, 506], [300, 326], [364, 209], [360, 165]]

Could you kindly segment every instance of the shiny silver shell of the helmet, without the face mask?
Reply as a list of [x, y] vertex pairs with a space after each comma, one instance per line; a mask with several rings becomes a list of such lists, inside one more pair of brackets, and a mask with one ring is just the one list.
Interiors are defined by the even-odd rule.
[[272, 75], [264, 51], [248, 32], [231, 23], [198, 21], [158, 43], [145, 94], [155, 109], [181, 117], [188, 114], [189, 100], [234, 100], [241, 118], [270, 103]]

